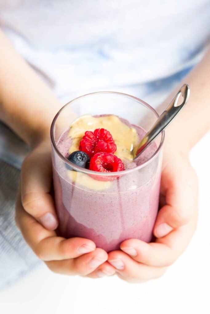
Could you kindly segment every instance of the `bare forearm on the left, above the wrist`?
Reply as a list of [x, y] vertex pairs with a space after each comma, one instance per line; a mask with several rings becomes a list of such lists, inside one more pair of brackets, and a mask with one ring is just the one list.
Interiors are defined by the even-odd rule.
[[0, 120], [33, 146], [62, 105], [1, 30], [0, 47]]

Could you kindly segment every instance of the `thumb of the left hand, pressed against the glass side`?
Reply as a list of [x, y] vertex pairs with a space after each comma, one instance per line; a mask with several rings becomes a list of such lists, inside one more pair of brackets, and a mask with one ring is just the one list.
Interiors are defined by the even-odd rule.
[[49, 194], [52, 183], [51, 153], [48, 144], [38, 146], [26, 157], [21, 169], [21, 199], [27, 213], [46, 229], [58, 226], [54, 200]]

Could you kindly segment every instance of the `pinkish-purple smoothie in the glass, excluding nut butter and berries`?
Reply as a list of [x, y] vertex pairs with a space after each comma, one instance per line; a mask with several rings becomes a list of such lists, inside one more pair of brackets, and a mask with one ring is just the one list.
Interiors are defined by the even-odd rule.
[[[132, 127], [139, 140], [143, 138], [145, 130]], [[72, 143], [68, 131], [57, 143], [65, 157]], [[151, 143], [135, 163], [124, 161], [125, 168], [141, 165], [156, 149], [156, 143]], [[99, 191], [73, 183], [67, 172], [64, 163], [53, 155], [55, 203], [62, 236], [91, 239], [107, 252], [119, 249], [126, 239], [151, 241], [159, 202], [160, 159], [153, 158], [145, 167], [118, 177], [110, 187]]]

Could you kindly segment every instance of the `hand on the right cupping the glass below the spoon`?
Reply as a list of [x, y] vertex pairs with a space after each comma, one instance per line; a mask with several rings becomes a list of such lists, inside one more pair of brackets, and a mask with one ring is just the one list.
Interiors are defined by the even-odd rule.
[[160, 205], [154, 227], [156, 241], [130, 239], [108, 255], [117, 275], [129, 282], [158, 278], [185, 250], [197, 223], [197, 177], [187, 157], [165, 154]]

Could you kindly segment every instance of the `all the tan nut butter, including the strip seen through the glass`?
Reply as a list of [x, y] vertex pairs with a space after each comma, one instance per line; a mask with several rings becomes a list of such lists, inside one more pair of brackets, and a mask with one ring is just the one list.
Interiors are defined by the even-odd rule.
[[[79, 150], [79, 143], [86, 131], [94, 131], [98, 128], [108, 130], [114, 139], [117, 150], [114, 153], [122, 161], [124, 159], [133, 160], [133, 146], [138, 143], [138, 134], [135, 128], [131, 128], [123, 123], [117, 116], [100, 116], [91, 115], [80, 116], [70, 127], [69, 137], [73, 138], [69, 154]], [[88, 189], [100, 191], [112, 186], [113, 181], [99, 181], [91, 176], [77, 171], [68, 170], [68, 177], [76, 185], [87, 187]]]

